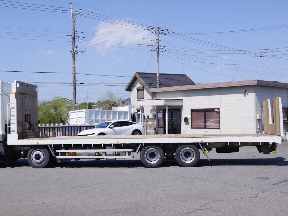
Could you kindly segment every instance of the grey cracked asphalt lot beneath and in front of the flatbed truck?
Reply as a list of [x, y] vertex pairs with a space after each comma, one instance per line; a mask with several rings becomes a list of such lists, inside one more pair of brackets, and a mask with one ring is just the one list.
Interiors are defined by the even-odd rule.
[[164, 161], [65, 161], [31, 168], [0, 162], [0, 215], [288, 215], [288, 141], [200, 155], [195, 167]]

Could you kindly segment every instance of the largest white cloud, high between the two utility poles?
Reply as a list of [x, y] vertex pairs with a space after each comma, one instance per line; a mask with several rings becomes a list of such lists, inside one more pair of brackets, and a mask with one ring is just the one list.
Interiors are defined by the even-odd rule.
[[[99, 23], [95, 29], [97, 32], [91, 43], [96, 45], [96, 49], [103, 56], [109, 51], [118, 50], [118, 47], [123, 45], [125, 47], [130, 47], [127, 45], [131, 45], [131, 48], [135, 48], [133, 45], [137, 46], [137, 43], [152, 44], [151, 41], [144, 40], [144, 38], [151, 38], [151, 31], [144, 29], [108, 22]], [[123, 61], [123, 59], [118, 61]]]

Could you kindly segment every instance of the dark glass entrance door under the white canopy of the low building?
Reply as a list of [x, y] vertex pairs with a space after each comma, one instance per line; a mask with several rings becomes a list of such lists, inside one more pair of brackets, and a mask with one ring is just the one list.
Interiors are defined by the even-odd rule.
[[[166, 134], [166, 115], [163, 115], [164, 134]], [[180, 134], [180, 109], [168, 109], [168, 134]]]

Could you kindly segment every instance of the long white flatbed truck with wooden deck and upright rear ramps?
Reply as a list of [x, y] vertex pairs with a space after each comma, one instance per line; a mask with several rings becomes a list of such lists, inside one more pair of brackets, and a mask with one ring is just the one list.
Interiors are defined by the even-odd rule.
[[[37, 137], [37, 86], [0, 81], [1, 139], [0, 160], [11, 163], [27, 158], [30, 166], [43, 168], [52, 160], [115, 160], [133, 158], [140, 152], [145, 167], [158, 167], [163, 160], [176, 159], [180, 166], [195, 166], [213, 148], [219, 153], [256, 146], [263, 154], [275, 153], [281, 143], [283, 117], [281, 98], [264, 101], [265, 134], [156, 134], [122, 136]], [[9, 89], [11, 86], [11, 89]], [[5, 108], [6, 107], [6, 108]], [[209, 159], [209, 157], [207, 156]], [[209, 159], [210, 160], [210, 159]]]

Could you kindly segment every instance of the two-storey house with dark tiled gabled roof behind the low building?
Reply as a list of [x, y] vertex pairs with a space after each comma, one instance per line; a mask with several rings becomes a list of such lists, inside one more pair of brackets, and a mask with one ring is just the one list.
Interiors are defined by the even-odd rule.
[[[159, 88], [195, 85], [195, 83], [185, 74], [159, 74]], [[134, 112], [140, 112], [141, 107], [138, 106], [138, 100], [155, 99], [156, 94], [151, 89], [157, 87], [157, 73], [135, 73], [126, 86], [125, 91], [131, 92], [130, 104], [134, 105]], [[150, 113], [152, 106], [143, 107], [142, 112], [148, 118], [155, 118], [155, 115]], [[142, 115], [141, 115], [142, 116]]]

